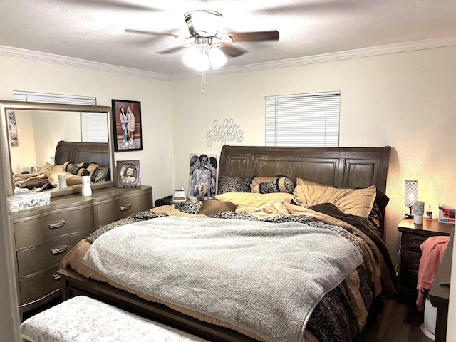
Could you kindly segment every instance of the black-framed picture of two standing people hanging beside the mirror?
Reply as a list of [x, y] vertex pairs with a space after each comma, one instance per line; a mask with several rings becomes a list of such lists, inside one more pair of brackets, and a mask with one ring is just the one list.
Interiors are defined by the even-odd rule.
[[111, 102], [114, 151], [142, 150], [141, 103], [132, 100], [112, 100]]

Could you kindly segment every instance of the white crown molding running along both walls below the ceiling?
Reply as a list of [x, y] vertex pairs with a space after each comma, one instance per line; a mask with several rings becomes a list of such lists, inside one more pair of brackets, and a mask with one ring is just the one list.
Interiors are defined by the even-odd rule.
[[[423, 41], [409, 41], [405, 43], [395, 43], [383, 46], [373, 46], [371, 48], [358, 48], [349, 51], [341, 51], [334, 53], [323, 53], [321, 55], [306, 56], [299, 58], [284, 59], [281, 61], [272, 61], [264, 63], [249, 64], [247, 66], [234, 66], [231, 68], [220, 68], [217, 70], [207, 71], [209, 75], [222, 75], [227, 73], [245, 73], [248, 71], [261, 71], [276, 68], [288, 68], [292, 66], [304, 66], [314, 63], [325, 63], [331, 61], [341, 61], [352, 58], [363, 58], [370, 56], [379, 56], [389, 53], [401, 53], [416, 50], [425, 50], [427, 48], [442, 48], [446, 46], [456, 46], [456, 37], [427, 39]], [[123, 66], [113, 66], [111, 64], [86, 61], [83, 59], [53, 55], [52, 53], [44, 53], [39, 51], [31, 51], [23, 48], [13, 48], [11, 46], [0, 45], [0, 55], [13, 56], [18, 58], [26, 58], [35, 61], [47, 61], [59, 63], [68, 66], [76, 66], [80, 68], [90, 68], [98, 71], [106, 71], [110, 73], [120, 73], [129, 76], [139, 76], [144, 78], [153, 78], [162, 81], [174, 81], [185, 78], [199, 77], [201, 73], [180, 73], [176, 75], [167, 75], [164, 73], [154, 73], [152, 71], [144, 71], [134, 68], [125, 68]]]

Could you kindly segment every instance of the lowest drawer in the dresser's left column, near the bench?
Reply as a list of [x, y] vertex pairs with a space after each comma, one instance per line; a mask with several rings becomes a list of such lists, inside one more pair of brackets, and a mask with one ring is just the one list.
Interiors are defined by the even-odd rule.
[[31, 276], [19, 277], [21, 303], [28, 304], [61, 289], [60, 278], [56, 274], [58, 266], [55, 264]]

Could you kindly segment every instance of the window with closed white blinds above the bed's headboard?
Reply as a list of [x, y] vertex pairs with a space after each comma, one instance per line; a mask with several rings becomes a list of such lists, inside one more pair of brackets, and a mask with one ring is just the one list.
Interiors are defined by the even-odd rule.
[[341, 93], [266, 96], [266, 146], [339, 145]]

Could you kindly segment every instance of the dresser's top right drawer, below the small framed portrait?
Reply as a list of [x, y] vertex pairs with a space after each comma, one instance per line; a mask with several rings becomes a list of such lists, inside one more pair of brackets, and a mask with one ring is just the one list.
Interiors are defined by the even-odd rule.
[[115, 199], [108, 203], [96, 204], [98, 227], [150, 208], [152, 208], [152, 195], [149, 192], [138, 196]]

